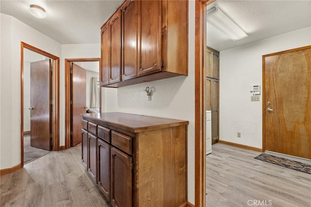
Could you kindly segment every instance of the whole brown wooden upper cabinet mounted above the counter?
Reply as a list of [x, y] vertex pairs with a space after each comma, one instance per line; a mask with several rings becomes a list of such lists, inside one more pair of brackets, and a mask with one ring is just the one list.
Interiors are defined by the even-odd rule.
[[101, 30], [102, 86], [188, 75], [188, 0], [125, 0]]

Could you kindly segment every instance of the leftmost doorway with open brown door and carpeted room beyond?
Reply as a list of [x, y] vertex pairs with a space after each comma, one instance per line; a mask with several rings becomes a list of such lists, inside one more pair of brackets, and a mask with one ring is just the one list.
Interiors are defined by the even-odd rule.
[[59, 150], [59, 58], [21, 42], [21, 167]]

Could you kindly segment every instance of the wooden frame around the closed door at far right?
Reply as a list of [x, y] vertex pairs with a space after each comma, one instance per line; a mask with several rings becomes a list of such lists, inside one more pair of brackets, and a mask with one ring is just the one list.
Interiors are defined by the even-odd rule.
[[265, 126], [266, 126], [266, 81], [265, 81], [265, 58], [274, 55], [280, 55], [288, 52], [294, 52], [303, 49], [309, 49], [311, 46], [305, 46], [301, 48], [288, 49], [280, 52], [270, 53], [266, 55], [262, 55], [262, 152], [266, 151], [266, 135], [265, 135]]

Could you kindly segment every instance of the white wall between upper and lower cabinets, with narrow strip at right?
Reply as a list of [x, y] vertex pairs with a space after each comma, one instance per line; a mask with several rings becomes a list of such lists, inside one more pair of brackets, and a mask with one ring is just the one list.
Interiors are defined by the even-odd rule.
[[[105, 96], [104, 111], [119, 111], [188, 120], [188, 201], [194, 204], [194, 38], [195, 2], [189, 1], [189, 75], [156, 80], [117, 90], [117, 96]], [[147, 100], [145, 87], [154, 87]], [[111, 91], [105, 93], [111, 93]]]

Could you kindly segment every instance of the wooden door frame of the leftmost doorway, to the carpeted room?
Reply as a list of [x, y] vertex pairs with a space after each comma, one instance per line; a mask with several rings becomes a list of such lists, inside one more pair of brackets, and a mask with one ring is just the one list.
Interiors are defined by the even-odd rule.
[[[52, 100], [54, 100], [52, 110], [52, 151], [59, 150], [59, 57], [52, 55], [44, 50], [35, 48], [27, 43], [20, 42], [20, 167], [24, 166], [24, 48], [35, 53], [53, 59], [53, 76], [52, 76]], [[51, 123], [50, 123], [51, 124]]]

